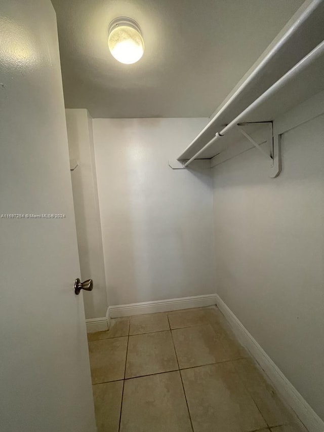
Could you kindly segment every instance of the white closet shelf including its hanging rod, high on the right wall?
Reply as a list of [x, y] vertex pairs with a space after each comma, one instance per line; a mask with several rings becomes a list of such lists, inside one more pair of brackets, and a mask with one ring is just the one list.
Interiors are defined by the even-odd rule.
[[184, 167], [195, 159], [213, 158], [241, 137], [238, 123], [255, 123], [249, 127], [253, 133], [260, 122], [272, 122], [324, 90], [323, 20], [324, 0], [308, 2], [295, 14], [178, 157]]

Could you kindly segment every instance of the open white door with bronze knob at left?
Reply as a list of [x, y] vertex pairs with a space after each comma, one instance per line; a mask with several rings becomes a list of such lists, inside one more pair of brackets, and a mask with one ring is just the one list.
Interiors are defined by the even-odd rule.
[[94, 432], [50, 0], [0, 1], [0, 83], [0, 430]]

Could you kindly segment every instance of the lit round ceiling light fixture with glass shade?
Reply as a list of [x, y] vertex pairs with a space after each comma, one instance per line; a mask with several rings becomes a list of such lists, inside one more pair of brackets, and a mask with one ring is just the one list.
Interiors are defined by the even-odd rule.
[[140, 26], [131, 18], [119, 17], [109, 24], [108, 47], [120, 63], [136, 63], [144, 53]]

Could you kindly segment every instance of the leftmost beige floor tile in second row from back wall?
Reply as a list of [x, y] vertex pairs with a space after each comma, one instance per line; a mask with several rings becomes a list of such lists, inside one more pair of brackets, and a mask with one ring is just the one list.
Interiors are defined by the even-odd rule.
[[89, 342], [93, 384], [124, 378], [128, 337]]

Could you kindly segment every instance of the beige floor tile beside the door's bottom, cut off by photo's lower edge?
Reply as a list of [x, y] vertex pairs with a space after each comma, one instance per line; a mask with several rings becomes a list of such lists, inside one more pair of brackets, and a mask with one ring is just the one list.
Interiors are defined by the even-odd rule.
[[98, 432], [118, 432], [123, 381], [93, 386]]

